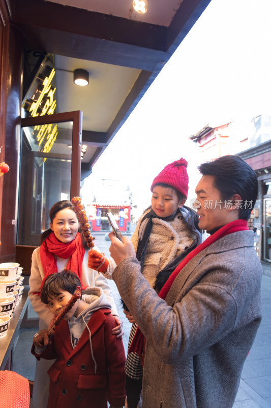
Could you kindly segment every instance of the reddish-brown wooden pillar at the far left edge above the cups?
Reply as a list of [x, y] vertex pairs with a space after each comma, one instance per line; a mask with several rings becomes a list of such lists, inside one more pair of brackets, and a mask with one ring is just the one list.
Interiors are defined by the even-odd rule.
[[10, 170], [0, 177], [0, 262], [15, 261], [19, 189], [23, 34], [10, 24], [0, 0], [0, 162]]

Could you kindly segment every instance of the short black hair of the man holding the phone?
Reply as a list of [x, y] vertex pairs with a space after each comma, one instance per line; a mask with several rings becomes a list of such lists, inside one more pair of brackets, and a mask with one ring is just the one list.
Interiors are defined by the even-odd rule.
[[258, 196], [258, 180], [255, 171], [239, 156], [222, 156], [213, 162], [202, 163], [198, 167], [202, 175], [213, 175], [214, 186], [221, 198], [228, 200], [239, 194], [242, 205], [239, 219], [248, 220]]

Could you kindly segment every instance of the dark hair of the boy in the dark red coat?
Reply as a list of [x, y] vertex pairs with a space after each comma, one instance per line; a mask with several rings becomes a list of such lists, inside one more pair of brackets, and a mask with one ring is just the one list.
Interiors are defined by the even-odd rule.
[[52, 273], [47, 276], [41, 288], [41, 301], [48, 303], [48, 298], [51, 295], [58, 295], [62, 291], [71, 293], [75, 292], [76, 286], [81, 287], [81, 282], [76, 273], [65, 269], [62, 272]]

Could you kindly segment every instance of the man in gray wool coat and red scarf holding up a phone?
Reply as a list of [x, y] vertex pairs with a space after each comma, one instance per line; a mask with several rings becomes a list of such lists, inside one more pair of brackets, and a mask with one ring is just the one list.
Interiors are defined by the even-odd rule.
[[261, 321], [262, 268], [247, 226], [257, 176], [237, 156], [199, 171], [195, 207], [210, 235], [159, 293], [141, 274], [130, 240], [110, 234], [112, 278], [138, 324], [131, 347], [144, 361], [142, 408], [231, 408]]

